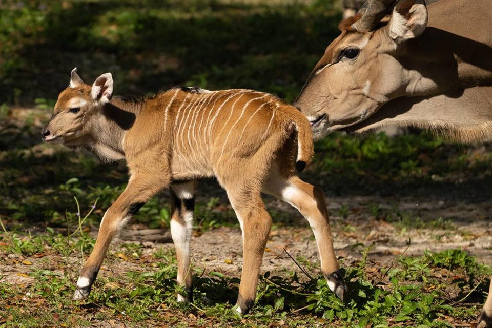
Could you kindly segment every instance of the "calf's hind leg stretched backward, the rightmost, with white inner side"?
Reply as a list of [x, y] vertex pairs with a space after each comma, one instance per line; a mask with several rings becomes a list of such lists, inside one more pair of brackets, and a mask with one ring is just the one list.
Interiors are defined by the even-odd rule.
[[344, 301], [347, 286], [333, 249], [332, 231], [322, 190], [297, 176], [286, 178], [272, 171], [265, 181], [263, 191], [288, 202], [308, 220], [318, 245], [321, 271], [332, 292]]

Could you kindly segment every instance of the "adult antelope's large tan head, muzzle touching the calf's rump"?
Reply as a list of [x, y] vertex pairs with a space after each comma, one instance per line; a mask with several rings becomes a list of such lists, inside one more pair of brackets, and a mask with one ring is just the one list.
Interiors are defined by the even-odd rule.
[[[382, 19], [391, 9], [389, 20]], [[408, 71], [398, 58], [405, 42], [427, 25], [423, 0], [368, 0], [342, 20], [295, 105], [308, 116], [314, 137], [357, 124], [405, 94]]]

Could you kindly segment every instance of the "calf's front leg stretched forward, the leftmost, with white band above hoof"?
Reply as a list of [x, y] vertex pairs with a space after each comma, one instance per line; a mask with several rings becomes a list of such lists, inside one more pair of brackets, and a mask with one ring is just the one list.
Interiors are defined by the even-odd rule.
[[74, 300], [84, 299], [89, 296], [92, 284], [116, 233], [138, 212], [140, 207], [150, 197], [154, 196], [162, 188], [167, 187], [168, 184], [169, 180], [157, 183], [156, 180], [150, 177], [132, 176], [127, 188], [106, 211], [103, 220], [101, 220], [94, 249], [77, 280], [77, 289], [73, 295]]

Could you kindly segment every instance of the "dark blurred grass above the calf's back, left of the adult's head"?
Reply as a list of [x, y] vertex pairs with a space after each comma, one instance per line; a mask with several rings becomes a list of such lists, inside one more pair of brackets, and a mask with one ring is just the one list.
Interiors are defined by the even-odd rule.
[[53, 99], [73, 67], [118, 94], [175, 85], [295, 98], [337, 35], [339, 3], [258, 0], [0, 2], [0, 103]]

